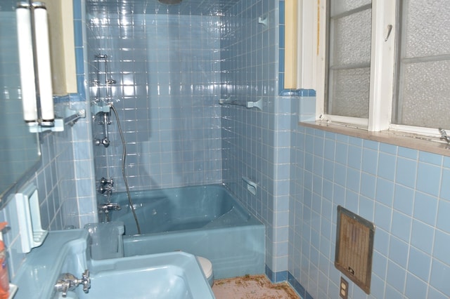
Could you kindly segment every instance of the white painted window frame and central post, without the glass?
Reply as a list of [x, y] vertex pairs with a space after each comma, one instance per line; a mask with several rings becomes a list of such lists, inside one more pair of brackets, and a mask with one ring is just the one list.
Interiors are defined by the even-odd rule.
[[[333, 1], [333, 0], [332, 0]], [[399, 131], [439, 138], [435, 128], [392, 124], [394, 98], [394, 67], [397, 39], [397, 1], [372, 1], [371, 81], [369, 89], [368, 119], [342, 117], [325, 113], [326, 86], [326, 0], [316, 0], [314, 19], [318, 29], [315, 56], [316, 119], [326, 123], [361, 128], [370, 132]], [[392, 29], [389, 26], [392, 25]], [[389, 33], [389, 34], [388, 34]]]

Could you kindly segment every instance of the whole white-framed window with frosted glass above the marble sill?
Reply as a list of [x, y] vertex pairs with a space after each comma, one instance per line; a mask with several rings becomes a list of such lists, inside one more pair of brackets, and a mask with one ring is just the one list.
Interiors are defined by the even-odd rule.
[[432, 136], [450, 128], [445, 0], [328, 0], [324, 18], [323, 11], [328, 32], [321, 37], [328, 39], [320, 119]]

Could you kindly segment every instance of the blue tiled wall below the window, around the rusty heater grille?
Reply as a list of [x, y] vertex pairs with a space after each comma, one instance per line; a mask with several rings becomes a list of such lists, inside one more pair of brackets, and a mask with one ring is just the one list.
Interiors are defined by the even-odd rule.
[[376, 227], [372, 293], [350, 282], [349, 298], [449, 297], [448, 157], [302, 126], [292, 134], [290, 284], [304, 298], [338, 296], [340, 204]]

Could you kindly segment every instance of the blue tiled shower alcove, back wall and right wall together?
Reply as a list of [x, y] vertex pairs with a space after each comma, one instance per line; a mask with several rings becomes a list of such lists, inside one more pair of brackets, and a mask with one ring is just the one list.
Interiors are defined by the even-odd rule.
[[[124, 123], [131, 188], [225, 182], [266, 224], [268, 274], [285, 280], [291, 112], [278, 100], [278, 1], [238, 1], [220, 19], [121, 9], [88, 8], [88, 60], [92, 80], [94, 56], [107, 54], [117, 81], [110, 95]], [[105, 95], [89, 85], [91, 100]], [[262, 99], [263, 111], [219, 107], [219, 95], [241, 104]], [[95, 148], [96, 172], [121, 191], [122, 146], [116, 126], [108, 130], [113, 143]], [[243, 176], [259, 185], [256, 196]]]

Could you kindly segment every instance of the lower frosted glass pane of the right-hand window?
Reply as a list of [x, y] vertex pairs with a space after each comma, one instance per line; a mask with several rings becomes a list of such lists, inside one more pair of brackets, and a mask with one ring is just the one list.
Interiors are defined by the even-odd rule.
[[450, 128], [450, 61], [404, 65], [399, 124]]

